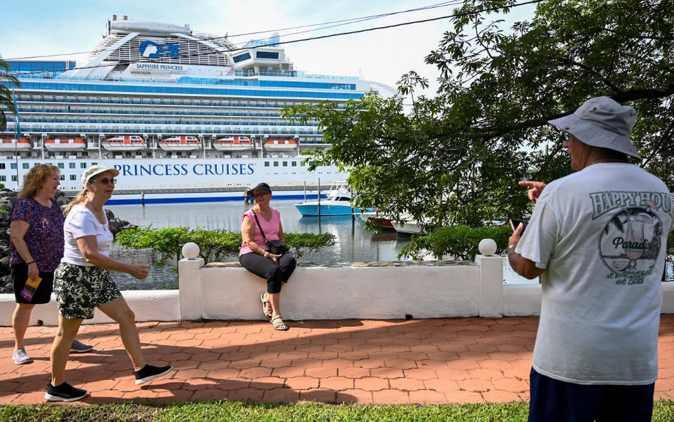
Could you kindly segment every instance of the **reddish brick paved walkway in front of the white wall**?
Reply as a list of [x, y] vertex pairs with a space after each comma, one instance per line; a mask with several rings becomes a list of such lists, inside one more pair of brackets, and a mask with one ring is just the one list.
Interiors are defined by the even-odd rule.
[[[171, 376], [134, 384], [116, 325], [83, 326], [95, 345], [71, 354], [68, 380], [85, 403], [124, 400], [473, 403], [528, 400], [536, 317], [409, 321], [144, 322], [149, 362]], [[55, 327], [29, 327], [33, 364], [16, 365], [11, 327], [0, 327], [0, 403], [43, 403]], [[660, 326], [656, 399], [674, 399], [674, 315]]]

